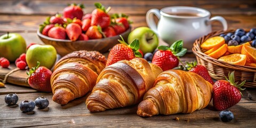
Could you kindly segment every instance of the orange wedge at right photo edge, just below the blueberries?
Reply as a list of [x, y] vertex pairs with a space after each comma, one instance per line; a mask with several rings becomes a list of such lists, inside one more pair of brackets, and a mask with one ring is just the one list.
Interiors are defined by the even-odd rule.
[[247, 56], [248, 63], [256, 63], [256, 49], [254, 47], [243, 45], [241, 53]]

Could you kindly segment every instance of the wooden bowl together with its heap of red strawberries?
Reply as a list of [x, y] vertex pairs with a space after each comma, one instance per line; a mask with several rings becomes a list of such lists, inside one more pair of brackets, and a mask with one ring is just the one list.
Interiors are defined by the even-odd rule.
[[86, 14], [83, 5], [68, 5], [63, 14], [46, 18], [37, 30], [38, 37], [43, 43], [53, 45], [61, 56], [79, 50], [104, 53], [119, 43], [120, 36], [127, 40], [131, 31], [128, 16], [110, 15], [110, 7], [94, 5], [96, 9]]

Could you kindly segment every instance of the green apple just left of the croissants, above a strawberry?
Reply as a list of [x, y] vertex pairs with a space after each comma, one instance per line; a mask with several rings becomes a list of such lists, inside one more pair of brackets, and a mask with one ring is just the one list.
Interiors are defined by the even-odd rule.
[[36, 67], [37, 61], [48, 69], [51, 69], [56, 61], [57, 52], [52, 45], [35, 44], [28, 48], [26, 61], [29, 68]]

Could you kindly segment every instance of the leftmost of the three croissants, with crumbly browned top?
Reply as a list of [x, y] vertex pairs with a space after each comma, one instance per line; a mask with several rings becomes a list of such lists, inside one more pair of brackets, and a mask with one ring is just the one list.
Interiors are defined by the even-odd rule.
[[93, 89], [106, 59], [97, 51], [76, 51], [61, 58], [51, 76], [54, 102], [65, 105]]

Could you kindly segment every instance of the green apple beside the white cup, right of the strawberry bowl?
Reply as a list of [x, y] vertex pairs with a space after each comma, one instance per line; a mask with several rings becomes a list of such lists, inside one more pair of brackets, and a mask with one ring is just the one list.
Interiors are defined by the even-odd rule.
[[134, 39], [139, 39], [140, 50], [143, 53], [154, 52], [158, 46], [157, 35], [148, 27], [139, 27], [131, 31], [128, 36], [128, 43], [132, 43]]

